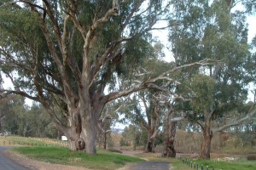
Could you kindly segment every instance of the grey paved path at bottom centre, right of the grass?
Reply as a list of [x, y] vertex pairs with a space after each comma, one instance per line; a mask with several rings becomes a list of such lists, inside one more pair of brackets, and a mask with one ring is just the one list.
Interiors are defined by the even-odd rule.
[[131, 167], [131, 170], [169, 170], [169, 166], [167, 161], [143, 161]]

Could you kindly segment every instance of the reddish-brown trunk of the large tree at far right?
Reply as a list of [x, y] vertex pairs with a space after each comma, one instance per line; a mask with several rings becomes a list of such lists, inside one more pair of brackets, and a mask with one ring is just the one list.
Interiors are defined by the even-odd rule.
[[201, 150], [199, 152], [199, 157], [201, 159], [210, 159], [211, 142], [212, 142], [212, 129], [210, 125], [210, 120], [206, 120], [205, 126], [203, 128], [203, 141], [201, 143]]

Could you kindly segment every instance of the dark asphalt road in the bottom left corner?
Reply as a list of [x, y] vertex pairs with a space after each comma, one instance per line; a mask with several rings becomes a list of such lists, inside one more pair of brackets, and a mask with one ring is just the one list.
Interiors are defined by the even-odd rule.
[[22, 167], [15, 161], [10, 160], [4, 156], [3, 151], [9, 149], [8, 146], [0, 146], [0, 170], [28, 170], [26, 167]]

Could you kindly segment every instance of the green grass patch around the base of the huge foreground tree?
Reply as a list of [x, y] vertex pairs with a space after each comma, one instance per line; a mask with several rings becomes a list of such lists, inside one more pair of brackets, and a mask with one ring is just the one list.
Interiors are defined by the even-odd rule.
[[123, 167], [125, 163], [143, 161], [137, 157], [124, 156], [107, 150], [97, 150], [96, 156], [60, 147], [20, 147], [14, 150], [38, 161], [102, 170], [117, 169]]

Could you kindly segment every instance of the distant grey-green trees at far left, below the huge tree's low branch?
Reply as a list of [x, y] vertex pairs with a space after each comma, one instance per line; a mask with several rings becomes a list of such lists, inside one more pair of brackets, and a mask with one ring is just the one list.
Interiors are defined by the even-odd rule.
[[2, 131], [20, 136], [56, 138], [58, 133], [49, 115], [41, 105], [25, 105], [24, 98], [11, 95], [1, 99]]

